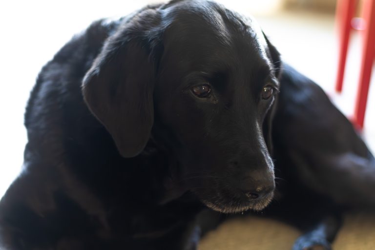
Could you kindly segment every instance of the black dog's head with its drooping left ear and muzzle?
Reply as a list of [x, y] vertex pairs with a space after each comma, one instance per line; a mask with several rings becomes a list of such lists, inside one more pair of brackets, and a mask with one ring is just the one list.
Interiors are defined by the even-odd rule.
[[262, 209], [274, 189], [279, 54], [257, 24], [210, 1], [146, 8], [104, 44], [83, 96], [124, 157], [151, 134], [179, 182], [222, 212]]

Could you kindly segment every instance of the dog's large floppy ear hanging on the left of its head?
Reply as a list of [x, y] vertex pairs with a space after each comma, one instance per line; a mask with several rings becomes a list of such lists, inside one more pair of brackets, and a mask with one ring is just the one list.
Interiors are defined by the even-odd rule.
[[150, 14], [118, 28], [83, 79], [83, 98], [105, 126], [123, 157], [139, 154], [154, 121], [155, 59], [151, 41], [142, 39]]

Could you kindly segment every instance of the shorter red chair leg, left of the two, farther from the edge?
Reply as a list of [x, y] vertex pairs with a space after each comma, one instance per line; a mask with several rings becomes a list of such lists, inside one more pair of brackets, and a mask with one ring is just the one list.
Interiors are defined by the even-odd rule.
[[341, 92], [344, 79], [345, 62], [348, 52], [351, 21], [354, 17], [356, 0], [337, 0], [336, 3], [336, 26], [338, 29], [339, 54], [336, 76], [336, 91]]

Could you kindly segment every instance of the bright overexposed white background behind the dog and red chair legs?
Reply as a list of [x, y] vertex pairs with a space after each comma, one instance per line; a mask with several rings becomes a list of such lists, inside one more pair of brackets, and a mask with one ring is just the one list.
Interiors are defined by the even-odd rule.
[[[344, 90], [338, 95], [334, 92], [338, 54], [335, 0], [218, 1], [237, 12], [255, 16], [284, 61], [319, 83], [346, 115], [352, 115], [361, 36], [359, 32], [352, 34]], [[27, 140], [24, 107], [42, 66], [92, 21], [124, 16], [151, 2], [159, 1], [1, 1], [0, 197], [21, 169]], [[363, 135], [375, 151], [373, 83], [374, 77]]]

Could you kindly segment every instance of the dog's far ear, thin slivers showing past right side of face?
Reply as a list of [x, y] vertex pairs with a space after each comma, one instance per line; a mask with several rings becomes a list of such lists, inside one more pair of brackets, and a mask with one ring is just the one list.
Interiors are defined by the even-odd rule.
[[[271, 42], [269, 41], [269, 39], [267, 38], [267, 36], [264, 33], [263, 33], [263, 35], [264, 35], [264, 37], [266, 39], [266, 42], [267, 42], [267, 45], [268, 45], [267, 54], [270, 57], [271, 62], [273, 63], [275, 77], [279, 78], [280, 77], [280, 72], [281, 72], [281, 66], [282, 66], [281, 58], [280, 58], [280, 53], [271, 44]], [[274, 113], [275, 113], [275, 110], [276, 110], [277, 100], [278, 100], [278, 98], [276, 96], [275, 101], [273, 102], [272, 107], [268, 111], [268, 113], [266, 115], [266, 118], [265, 118], [265, 120], [263, 122], [263, 135], [264, 135], [264, 139], [266, 141], [268, 150], [269, 150], [269, 152], [270, 152], [271, 155], [273, 153], [273, 146], [272, 146], [272, 120], [273, 120], [273, 116], [274, 116]]]

